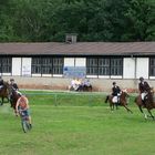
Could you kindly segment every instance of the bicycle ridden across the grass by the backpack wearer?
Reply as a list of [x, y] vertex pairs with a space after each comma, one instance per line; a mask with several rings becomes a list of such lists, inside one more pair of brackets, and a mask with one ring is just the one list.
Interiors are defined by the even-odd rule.
[[24, 133], [31, 130], [31, 124], [29, 123], [29, 116], [25, 114], [25, 111], [19, 111], [21, 117], [21, 126]]

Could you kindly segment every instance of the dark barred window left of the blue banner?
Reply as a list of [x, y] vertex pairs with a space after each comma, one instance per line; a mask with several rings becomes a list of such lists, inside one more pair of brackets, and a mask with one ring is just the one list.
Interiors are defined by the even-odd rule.
[[63, 58], [32, 58], [32, 74], [63, 74]]

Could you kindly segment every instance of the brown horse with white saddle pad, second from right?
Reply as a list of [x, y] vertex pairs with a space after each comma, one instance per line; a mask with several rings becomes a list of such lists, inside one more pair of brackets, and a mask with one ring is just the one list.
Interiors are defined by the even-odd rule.
[[[127, 91], [126, 90], [122, 90], [121, 91], [121, 95], [120, 95], [120, 105], [121, 106], [124, 106], [126, 110], [127, 110], [127, 112], [131, 112], [131, 113], [133, 113], [128, 107], [127, 107], [127, 97], [128, 97], [130, 95], [128, 95], [128, 93], [127, 93]], [[118, 103], [117, 102], [114, 102], [113, 101], [113, 95], [107, 95], [106, 96], [106, 99], [105, 99], [105, 103], [107, 103], [107, 101], [108, 101], [108, 103], [110, 103], [110, 107], [111, 107], [111, 111], [114, 111], [114, 106], [116, 106], [116, 110], [117, 110], [117, 106], [118, 106]]]

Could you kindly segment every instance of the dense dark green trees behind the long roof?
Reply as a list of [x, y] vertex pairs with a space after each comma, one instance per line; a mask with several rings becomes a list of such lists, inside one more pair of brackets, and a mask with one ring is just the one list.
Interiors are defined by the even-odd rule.
[[154, 0], [1, 0], [0, 42], [155, 41]]

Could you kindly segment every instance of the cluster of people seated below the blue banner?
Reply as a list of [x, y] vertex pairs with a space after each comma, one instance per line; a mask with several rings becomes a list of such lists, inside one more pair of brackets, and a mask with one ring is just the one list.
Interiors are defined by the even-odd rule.
[[71, 81], [71, 85], [69, 86], [69, 90], [81, 91], [84, 86], [91, 86], [91, 82], [89, 79], [73, 79]]

